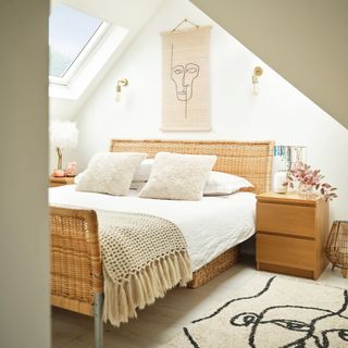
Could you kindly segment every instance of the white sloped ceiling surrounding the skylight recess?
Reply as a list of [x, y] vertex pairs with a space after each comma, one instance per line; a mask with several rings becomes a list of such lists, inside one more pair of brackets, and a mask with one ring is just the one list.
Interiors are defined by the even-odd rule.
[[57, 3], [64, 3], [109, 23], [114, 23], [129, 29], [127, 37], [117, 47], [109, 62], [99, 72], [80, 98], [77, 100], [50, 98], [51, 119], [74, 119], [75, 114], [88, 100], [88, 97], [94, 92], [108, 71], [127, 49], [162, 2], [163, 0], [51, 0], [51, 8]]

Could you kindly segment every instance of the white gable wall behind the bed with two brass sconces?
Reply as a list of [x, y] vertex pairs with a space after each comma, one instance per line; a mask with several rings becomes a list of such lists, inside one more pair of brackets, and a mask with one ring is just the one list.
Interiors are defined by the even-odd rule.
[[[161, 32], [183, 18], [211, 32], [211, 122], [209, 133], [169, 133], [161, 123]], [[264, 70], [260, 95], [251, 95], [251, 73]], [[115, 82], [127, 77], [124, 100], [114, 101]], [[323, 82], [324, 84], [325, 82]], [[166, 0], [77, 114], [75, 156], [79, 169], [111, 138], [274, 139], [304, 145], [308, 162], [338, 187], [332, 219], [347, 219], [348, 130], [289, 85], [241, 44], [186, 0]]]

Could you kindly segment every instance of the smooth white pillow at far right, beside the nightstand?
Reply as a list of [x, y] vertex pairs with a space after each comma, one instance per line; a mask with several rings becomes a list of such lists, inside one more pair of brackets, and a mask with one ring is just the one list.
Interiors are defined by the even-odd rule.
[[204, 196], [231, 195], [241, 188], [253, 187], [246, 178], [222, 172], [211, 172], [204, 186]]

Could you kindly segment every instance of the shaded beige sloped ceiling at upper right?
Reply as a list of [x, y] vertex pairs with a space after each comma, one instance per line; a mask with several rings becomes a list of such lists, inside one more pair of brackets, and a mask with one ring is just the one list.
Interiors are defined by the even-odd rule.
[[347, 0], [190, 1], [348, 128]]

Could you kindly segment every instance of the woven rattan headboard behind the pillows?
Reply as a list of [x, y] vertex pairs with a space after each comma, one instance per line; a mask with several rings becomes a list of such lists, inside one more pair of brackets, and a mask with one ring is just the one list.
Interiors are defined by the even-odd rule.
[[215, 154], [214, 171], [243, 176], [261, 194], [271, 188], [273, 147], [273, 141], [112, 139], [110, 151], [146, 152], [149, 158], [160, 151]]

